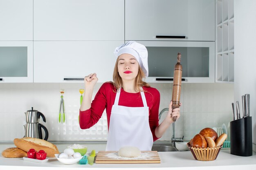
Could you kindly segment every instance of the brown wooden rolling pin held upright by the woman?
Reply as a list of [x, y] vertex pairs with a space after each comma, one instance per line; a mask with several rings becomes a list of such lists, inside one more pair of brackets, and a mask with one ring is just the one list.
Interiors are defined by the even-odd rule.
[[[172, 109], [180, 107], [180, 90], [181, 90], [181, 77], [182, 77], [182, 65], [180, 64], [181, 53], [177, 55], [177, 64], [174, 67], [173, 74], [173, 94], [172, 94]], [[176, 121], [176, 116], [173, 117], [173, 121]]]

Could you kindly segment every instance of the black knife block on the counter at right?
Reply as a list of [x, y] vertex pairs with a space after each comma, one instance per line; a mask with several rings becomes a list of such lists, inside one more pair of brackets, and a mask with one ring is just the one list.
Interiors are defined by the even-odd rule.
[[252, 156], [252, 117], [230, 122], [230, 153], [242, 157]]

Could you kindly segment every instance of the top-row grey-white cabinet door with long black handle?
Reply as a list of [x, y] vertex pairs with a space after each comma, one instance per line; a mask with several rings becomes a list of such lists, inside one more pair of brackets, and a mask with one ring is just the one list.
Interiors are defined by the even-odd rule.
[[126, 0], [125, 40], [215, 41], [215, 0]]

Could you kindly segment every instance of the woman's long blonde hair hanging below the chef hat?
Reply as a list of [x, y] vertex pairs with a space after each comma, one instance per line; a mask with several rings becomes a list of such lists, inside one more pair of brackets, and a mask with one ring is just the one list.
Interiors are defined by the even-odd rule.
[[[119, 58], [119, 57], [118, 57]], [[113, 72], [113, 84], [115, 86], [115, 90], [117, 91], [117, 89], [122, 87], [122, 78], [118, 73], [118, 58], [114, 67], [114, 72]], [[143, 79], [145, 79], [145, 74], [142, 71], [141, 67], [139, 66], [139, 71], [138, 71], [138, 75], [135, 78], [135, 90], [136, 91], [141, 91], [142, 86], [146, 86], [146, 87], [150, 87], [149, 84], [147, 84], [146, 82], [143, 81]], [[143, 91], [143, 90], [142, 90]]]

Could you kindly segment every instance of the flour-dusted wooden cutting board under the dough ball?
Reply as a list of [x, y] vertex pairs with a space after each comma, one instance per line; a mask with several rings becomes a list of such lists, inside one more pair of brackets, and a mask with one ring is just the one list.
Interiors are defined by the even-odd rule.
[[136, 158], [119, 157], [118, 151], [99, 151], [95, 163], [160, 163], [157, 151], [141, 151]]

